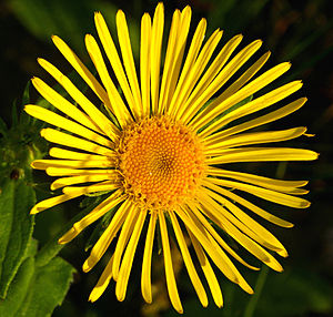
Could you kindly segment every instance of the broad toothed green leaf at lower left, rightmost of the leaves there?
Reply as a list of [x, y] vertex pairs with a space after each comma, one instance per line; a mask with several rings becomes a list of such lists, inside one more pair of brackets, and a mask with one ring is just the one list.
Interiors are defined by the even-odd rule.
[[53, 309], [61, 305], [73, 273], [74, 268], [60, 257], [54, 257], [48, 265], [36, 268], [33, 282], [16, 316], [51, 316]]

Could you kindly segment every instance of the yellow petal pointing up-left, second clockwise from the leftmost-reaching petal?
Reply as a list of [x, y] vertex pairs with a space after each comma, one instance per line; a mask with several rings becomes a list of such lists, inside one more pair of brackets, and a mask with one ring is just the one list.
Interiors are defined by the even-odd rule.
[[38, 62], [64, 88], [69, 95], [84, 110], [104, 134], [111, 140], [117, 137], [119, 134], [118, 127], [101, 111], [99, 111], [64, 74], [43, 59], [38, 59]]

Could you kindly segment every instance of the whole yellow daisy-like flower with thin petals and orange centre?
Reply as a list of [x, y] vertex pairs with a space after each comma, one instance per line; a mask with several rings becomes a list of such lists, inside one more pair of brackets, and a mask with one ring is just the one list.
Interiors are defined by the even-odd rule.
[[[112, 278], [117, 282], [118, 299], [124, 299], [140, 237], [145, 241], [142, 295], [147, 303], [152, 301], [151, 262], [158, 226], [170, 300], [179, 313], [183, 311], [172, 266], [168, 222], [203, 306], [208, 305], [208, 296], [190, 255], [190, 244], [219, 307], [223, 305], [222, 293], [211, 263], [245, 292], [253, 293], [230, 257], [252, 269], [258, 268], [245, 263], [219, 235], [216, 227], [272, 269], [281, 272], [281, 265], [270, 250], [285, 257], [285, 248], [251, 214], [282, 227], [292, 227], [292, 224], [252, 204], [240, 193], [284, 206], [306, 208], [310, 203], [300, 197], [307, 193], [301, 188], [306, 182], [230, 171], [226, 163], [309, 161], [317, 157], [316, 153], [302, 149], [249, 146], [303, 135], [305, 127], [249, 131], [296, 111], [305, 103], [305, 98], [275, 106], [274, 111], [265, 114], [240, 120], [300, 90], [301, 81], [284, 84], [250, 101], [254, 93], [285, 73], [290, 63], [281, 63], [256, 75], [270, 57], [266, 52], [243, 71], [242, 67], [262, 42], [256, 40], [235, 52], [242, 35], [232, 38], [212, 58], [222, 31], [216, 30], [204, 42], [206, 21], [202, 19], [193, 38], [188, 39], [190, 7], [173, 13], [163, 62], [163, 4], [158, 4], [152, 22], [148, 13], [143, 14], [140, 70], [135, 69], [124, 13], [117, 13], [121, 55], [102, 14], [95, 13], [94, 21], [108, 61], [92, 35], [85, 37], [85, 45], [100, 81], [61, 39], [53, 37], [52, 40], [105, 111], [99, 110], [54, 65], [39, 59], [40, 65], [63, 86], [75, 105], [42, 80], [32, 80], [40, 94], [62, 114], [31, 104], [26, 106], [26, 111], [68, 133], [51, 127], [41, 131], [44, 139], [60, 146], [50, 150], [53, 158], [37, 160], [32, 167], [57, 176], [51, 190], [62, 188], [62, 194], [38, 203], [31, 213], [89, 193], [110, 192], [107, 200], [59, 239], [61, 244], [72, 241], [115, 207], [111, 223], [83, 264], [84, 272], [92, 269], [118, 236], [113, 255], [90, 295], [91, 301], [102, 295]], [[113, 76], [118, 83], [114, 83]], [[240, 106], [239, 103], [246, 99], [249, 102]], [[142, 233], [145, 222], [149, 223], [147, 234]]]

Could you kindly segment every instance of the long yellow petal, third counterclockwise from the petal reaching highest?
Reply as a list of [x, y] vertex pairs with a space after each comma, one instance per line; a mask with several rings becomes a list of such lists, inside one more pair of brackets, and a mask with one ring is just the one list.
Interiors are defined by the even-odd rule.
[[[114, 45], [114, 42], [112, 40], [112, 37], [109, 32], [109, 28], [105, 23], [105, 20], [103, 16], [100, 12], [95, 12], [94, 14], [94, 23], [95, 28], [99, 33], [99, 38], [102, 42], [103, 49], [107, 53], [107, 57], [111, 63], [111, 67], [114, 71], [114, 74], [119, 81], [119, 84], [121, 86], [121, 90], [123, 91], [123, 94], [128, 101], [128, 104], [131, 110], [135, 110], [135, 102], [133, 94], [131, 92], [127, 75], [124, 73], [121, 60], [119, 58], [117, 48]], [[138, 115], [138, 113], [134, 113], [134, 115]], [[137, 117], [137, 116], [135, 116]]]

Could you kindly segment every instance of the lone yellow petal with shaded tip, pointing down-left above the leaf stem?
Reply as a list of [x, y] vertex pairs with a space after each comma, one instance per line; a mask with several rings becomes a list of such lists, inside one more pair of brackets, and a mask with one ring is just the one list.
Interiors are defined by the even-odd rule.
[[79, 222], [75, 222], [73, 226], [59, 238], [59, 244], [65, 244], [77, 237], [84, 228], [91, 225], [93, 222], [101, 218], [104, 214], [115, 207], [119, 203], [125, 200], [127, 196], [121, 196], [121, 191], [115, 191], [97, 207], [94, 207], [88, 215], [85, 215]]

